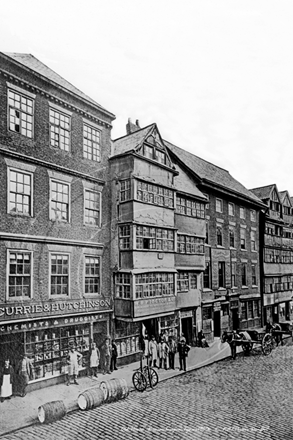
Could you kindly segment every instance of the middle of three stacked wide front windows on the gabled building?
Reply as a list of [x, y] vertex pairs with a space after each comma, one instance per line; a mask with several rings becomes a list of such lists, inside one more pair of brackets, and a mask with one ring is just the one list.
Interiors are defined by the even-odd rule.
[[149, 226], [137, 226], [136, 248], [174, 251], [174, 231]]

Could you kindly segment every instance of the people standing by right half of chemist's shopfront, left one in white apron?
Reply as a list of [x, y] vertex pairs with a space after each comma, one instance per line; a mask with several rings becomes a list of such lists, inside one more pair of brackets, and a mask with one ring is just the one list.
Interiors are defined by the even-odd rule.
[[[106, 338], [100, 350], [95, 342], [92, 342], [89, 363], [89, 375], [91, 377], [98, 377], [98, 369], [103, 374], [111, 374], [112, 371], [117, 370], [117, 356], [118, 349], [115, 340], [110, 342], [110, 338]], [[78, 385], [77, 376], [79, 365], [82, 362], [83, 355], [76, 350], [75, 346], [71, 346], [68, 357], [68, 373], [66, 375], [66, 384], [70, 385], [71, 378], [73, 383]]]

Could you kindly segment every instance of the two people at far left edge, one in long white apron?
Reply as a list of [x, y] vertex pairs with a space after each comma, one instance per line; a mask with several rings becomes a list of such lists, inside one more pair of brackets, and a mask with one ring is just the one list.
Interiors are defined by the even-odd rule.
[[34, 367], [31, 359], [24, 354], [13, 368], [10, 359], [5, 359], [0, 369], [0, 402], [11, 399], [13, 395], [26, 395], [26, 387], [34, 379]]

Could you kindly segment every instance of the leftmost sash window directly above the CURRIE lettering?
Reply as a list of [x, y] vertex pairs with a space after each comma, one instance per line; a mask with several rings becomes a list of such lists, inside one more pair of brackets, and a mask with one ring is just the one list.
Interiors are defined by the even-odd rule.
[[31, 297], [31, 252], [9, 251], [8, 299]]

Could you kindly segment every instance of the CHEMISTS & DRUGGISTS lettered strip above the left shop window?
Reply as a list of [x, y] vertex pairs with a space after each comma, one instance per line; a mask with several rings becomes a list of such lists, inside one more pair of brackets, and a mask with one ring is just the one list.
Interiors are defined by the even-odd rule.
[[47, 319], [40, 321], [22, 321], [17, 324], [0, 324], [0, 333], [22, 332], [32, 330], [44, 330], [52, 327], [64, 327], [69, 325], [86, 324], [103, 319], [103, 315], [84, 315], [68, 318]]

